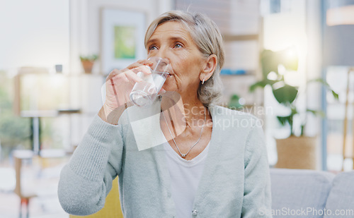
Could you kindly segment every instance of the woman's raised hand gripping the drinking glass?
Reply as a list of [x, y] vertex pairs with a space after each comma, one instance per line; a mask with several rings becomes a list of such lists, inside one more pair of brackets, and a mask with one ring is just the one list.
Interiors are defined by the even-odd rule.
[[[132, 105], [129, 98], [132, 87], [135, 83], [142, 81], [137, 73], [151, 73], [149, 66], [152, 66], [152, 64], [151, 61], [140, 60], [127, 66], [127, 68], [115, 69], [110, 72], [105, 80], [105, 103], [98, 113], [103, 121], [117, 124], [116, 121], [118, 121], [122, 111]], [[108, 116], [114, 117], [114, 121], [109, 120]]]

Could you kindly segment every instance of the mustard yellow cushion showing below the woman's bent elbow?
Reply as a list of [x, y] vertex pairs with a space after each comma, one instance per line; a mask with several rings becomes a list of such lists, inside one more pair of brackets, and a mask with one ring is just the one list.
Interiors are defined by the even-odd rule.
[[[70, 218], [82, 218], [82, 216], [70, 215]], [[96, 212], [96, 214], [91, 214], [89, 216], [84, 216], [88, 218], [99, 217], [99, 218], [123, 218], [122, 210], [120, 210], [120, 200], [118, 191], [118, 176], [113, 180], [112, 189], [108, 193], [107, 198], [105, 198], [105, 206], [102, 210]]]

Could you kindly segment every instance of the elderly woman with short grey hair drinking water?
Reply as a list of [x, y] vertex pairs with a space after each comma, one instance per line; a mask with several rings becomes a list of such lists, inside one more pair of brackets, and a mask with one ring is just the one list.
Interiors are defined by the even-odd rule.
[[263, 131], [254, 116], [213, 104], [222, 36], [199, 13], [170, 11], [145, 36], [147, 56], [171, 63], [161, 96], [141, 109], [132, 85], [148, 60], [108, 75], [105, 104], [62, 170], [59, 200], [93, 214], [118, 176], [125, 217], [271, 217]]

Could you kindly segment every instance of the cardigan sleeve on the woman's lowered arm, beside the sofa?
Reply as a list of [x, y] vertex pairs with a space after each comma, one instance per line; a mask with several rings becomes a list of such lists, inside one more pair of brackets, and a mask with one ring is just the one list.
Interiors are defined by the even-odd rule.
[[253, 126], [247, 137], [244, 167], [241, 217], [272, 217], [268, 156], [263, 129], [259, 125]]

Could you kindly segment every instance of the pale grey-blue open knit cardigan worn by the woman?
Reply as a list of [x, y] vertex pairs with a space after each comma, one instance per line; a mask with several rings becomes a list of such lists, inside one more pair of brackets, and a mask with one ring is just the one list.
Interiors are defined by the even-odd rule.
[[[161, 145], [160, 105], [156, 101], [144, 111], [130, 107], [117, 126], [98, 116], [93, 119], [62, 169], [58, 194], [66, 212], [86, 215], [101, 210], [118, 176], [126, 218], [176, 216]], [[270, 176], [258, 120], [223, 107], [211, 105], [209, 109], [213, 121], [210, 150], [190, 217], [271, 217], [263, 215], [271, 207]], [[146, 113], [152, 113], [148, 115], [152, 119], [142, 121]], [[141, 147], [142, 142], [149, 148]]]

